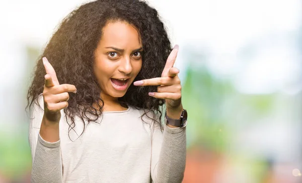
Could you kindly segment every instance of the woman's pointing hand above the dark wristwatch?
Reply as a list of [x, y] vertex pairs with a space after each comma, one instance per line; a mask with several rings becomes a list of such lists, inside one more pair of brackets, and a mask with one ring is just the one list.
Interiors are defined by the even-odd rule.
[[181, 83], [178, 77], [179, 70], [173, 67], [177, 53], [178, 45], [170, 53], [162, 77], [136, 81], [135, 86], [158, 86], [157, 92], [150, 92], [149, 96], [166, 99], [167, 115], [174, 119], [179, 119], [183, 110], [181, 103]]

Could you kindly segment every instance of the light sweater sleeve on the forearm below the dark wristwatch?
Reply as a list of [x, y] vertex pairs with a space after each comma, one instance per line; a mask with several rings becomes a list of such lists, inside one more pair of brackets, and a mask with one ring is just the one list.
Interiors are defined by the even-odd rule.
[[186, 124], [171, 128], [154, 128], [152, 137], [151, 178], [155, 183], [180, 183], [186, 166]]

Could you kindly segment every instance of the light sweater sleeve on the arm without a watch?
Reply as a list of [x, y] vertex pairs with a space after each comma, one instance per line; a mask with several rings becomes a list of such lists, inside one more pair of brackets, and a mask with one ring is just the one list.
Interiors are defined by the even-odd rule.
[[[43, 108], [42, 96], [39, 97], [39, 104]], [[62, 160], [60, 141], [48, 142], [40, 136], [43, 115], [43, 110], [37, 104], [34, 104], [31, 109], [29, 125], [29, 142], [33, 160], [31, 182], [61, 183]]]

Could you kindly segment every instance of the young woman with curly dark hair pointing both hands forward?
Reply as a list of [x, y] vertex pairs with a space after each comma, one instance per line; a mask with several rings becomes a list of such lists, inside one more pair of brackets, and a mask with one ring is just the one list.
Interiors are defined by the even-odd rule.
[[100, 0], [70, 13], [28, 92], [32, 182], [181, 182], [177, 52], [145, 2]]

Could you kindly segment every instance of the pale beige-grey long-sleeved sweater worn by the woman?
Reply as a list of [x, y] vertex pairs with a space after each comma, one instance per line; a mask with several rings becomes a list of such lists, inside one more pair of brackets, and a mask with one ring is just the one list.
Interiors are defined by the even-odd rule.
[[[43, 106], [43, 97], [39, 103]], [[86, 122], [79, 137], [82, 120], [75, 118], [68, 136], [69, 125], [61, 111], [60, 140], [50, 143], [39, 135], [44, 112], [34, 105], [29, 126], [31, 182], [182, 182], [186, 127], [165, 125], [162, 132], [149, 118], [143, 122], [142, 112], [131, 106], [104, 112], [99, 123]]]

